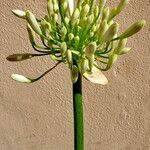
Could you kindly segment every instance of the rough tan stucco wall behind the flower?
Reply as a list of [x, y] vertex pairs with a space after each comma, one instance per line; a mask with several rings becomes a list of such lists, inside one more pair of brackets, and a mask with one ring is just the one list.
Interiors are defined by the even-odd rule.
[[[12, 53], [33, 51], [25, 22], [11, 13], [14, 8], [43, 16], [46, 0], [0, 0], [0, 150], [73, 150], [67, 67], [58, 66], [32, 85], [10, 79], [11, 73], [35, 77], [54, 65], [48, 57], [6, 61]], [[150, 1], [131, 0], [117, 20], [123, 30], [142, 18], [147, 26], [129, 40], [130, 54], [106, 73], [109, 84], [83, 80], [85, 150], [150, 150]]]

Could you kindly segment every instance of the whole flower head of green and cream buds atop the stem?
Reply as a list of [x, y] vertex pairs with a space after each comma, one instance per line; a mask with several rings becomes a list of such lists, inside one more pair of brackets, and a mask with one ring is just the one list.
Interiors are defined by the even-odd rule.
[[[59, 63], [68, 65], [72, 82], [83, 75], [93, 83], [107, 84], [102, 71], [109, 70], [118, 56], [128, 53], [127, 39], [145, 25], [140, 20], [123, 33], [118, 33], [119, 24], [114, 18], [125, 8], [129, 0], [120, 0], [115, 8], [106, 6], [106, 0], [48, 0], [44, 18], [36, 18], [29, 10], [12, 10], [13, 14], [27, 23], [30, 43], [36, 54], [13, 54], [9, 61], [22, 61], [38, 56], [50, 55]], [[37, 43], [38, 36], [41, 39]], [[39, 40], [38, 40], [39, 41]], [[31, 79], [19, 74], [12, 78], [23, 83], [32, 83], [51, 71], [50, 68], [40, 77]]]

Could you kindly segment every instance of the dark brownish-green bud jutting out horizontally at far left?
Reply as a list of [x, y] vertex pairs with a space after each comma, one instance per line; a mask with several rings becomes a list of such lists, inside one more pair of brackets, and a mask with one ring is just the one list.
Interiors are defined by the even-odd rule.
[[33, 54], [29, 54], [29, 53], [25, 53], [25, 54], [13, 54], [13, 55], [10, 55], [8, 56], [6, 59], [8, 61], [23, 61], [23, 60], [26, 60], [26, 59], [30, 59], [34, 57]]

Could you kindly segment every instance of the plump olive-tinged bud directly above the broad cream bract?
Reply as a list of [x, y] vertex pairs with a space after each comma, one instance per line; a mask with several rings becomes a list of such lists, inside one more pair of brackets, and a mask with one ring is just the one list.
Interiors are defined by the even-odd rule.
[[85, 49], [85, 55], [89, 58], [91, 57], [96, 51], [97, 45], [96, 42], [91, 42], [88, 47]]

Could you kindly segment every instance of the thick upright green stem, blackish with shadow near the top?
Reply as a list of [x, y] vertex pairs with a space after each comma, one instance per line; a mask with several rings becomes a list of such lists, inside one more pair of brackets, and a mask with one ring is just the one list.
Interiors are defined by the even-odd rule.
[[73, 84], [74, 150], [84, 150], [82, 76]]

